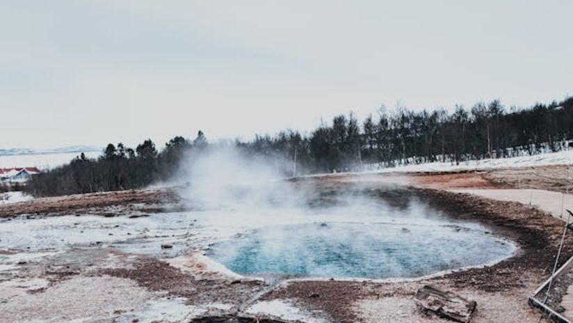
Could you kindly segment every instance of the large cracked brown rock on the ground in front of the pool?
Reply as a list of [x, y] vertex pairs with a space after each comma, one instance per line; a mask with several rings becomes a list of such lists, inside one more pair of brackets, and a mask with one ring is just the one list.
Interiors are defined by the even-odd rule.
[[431, 285], [421, 287], [414, 301], [418, 306], [431, 310], [441, 317], [462, 323], [471, 320], [477, 306], [476, 301], [468, 301], [458, 294], [444, 292]]

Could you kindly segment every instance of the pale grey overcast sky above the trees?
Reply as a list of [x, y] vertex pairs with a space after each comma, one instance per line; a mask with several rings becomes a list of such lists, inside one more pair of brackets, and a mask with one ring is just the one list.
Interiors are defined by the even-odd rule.
[[573, 95], [573, 1], [0, 1], [0, 148]]

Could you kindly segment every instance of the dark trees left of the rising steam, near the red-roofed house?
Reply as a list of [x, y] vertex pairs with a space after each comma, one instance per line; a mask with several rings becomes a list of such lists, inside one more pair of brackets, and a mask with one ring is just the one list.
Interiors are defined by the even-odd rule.
[[176, 136], [161, 152], [151, 139], [135, 149], [123, 143], [110, 143], [97, 159], [89, 159], [82, 153], [69, 164], [34, 175], [24, 191], [33, 196], [60, 196], [147, 187], [170, 180], [191, 147], [200, 150], [206, 145], [202, 132], [193, 142]]

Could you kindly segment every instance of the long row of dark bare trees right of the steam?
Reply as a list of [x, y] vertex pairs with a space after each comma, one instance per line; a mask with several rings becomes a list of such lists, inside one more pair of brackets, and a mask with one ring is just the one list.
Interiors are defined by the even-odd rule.
[[572, 139], [570, 97], [524, 109], [507, 109], [499, 100], [469, 109], [458, 105], [451, 112], [380, 109], [362, 123], [350, 113], [335, 116], [332, 123], [307, 135], [287, 130], [241, 145], [257, 154], [291, 160], [293, 175], [300, 175], [534, 155], [562, 150]]

